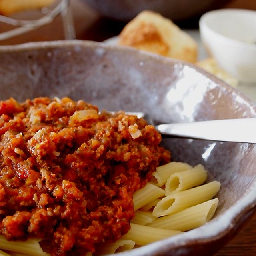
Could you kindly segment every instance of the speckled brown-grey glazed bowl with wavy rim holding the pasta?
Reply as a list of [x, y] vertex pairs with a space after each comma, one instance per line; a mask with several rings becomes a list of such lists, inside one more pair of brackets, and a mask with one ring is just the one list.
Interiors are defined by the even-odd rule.
[[[1, 99], [69, 96], [101, 109], [143, 111], [158, 123], [256, 116], [250, 100], [196, 66], [134, 49], [30, 43], [0, 47], [0, 60]], [[174, 138], [162, 143], [172, 160], [201, 163], [209, 181], [221, 182], [218, 210], [200, 228], [120, 255], [212, 255], [255, 210], [256, 146]]]

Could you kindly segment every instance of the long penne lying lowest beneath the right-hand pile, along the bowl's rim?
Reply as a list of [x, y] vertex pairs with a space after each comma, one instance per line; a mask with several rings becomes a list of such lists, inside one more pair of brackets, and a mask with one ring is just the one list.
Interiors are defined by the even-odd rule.
[[181, 233], [178, 230], [167, 230], [131, 223], [130, 230], [122, 236], [122, 239], [131, 239], [134, 240], [135, 244], [143, 246]]

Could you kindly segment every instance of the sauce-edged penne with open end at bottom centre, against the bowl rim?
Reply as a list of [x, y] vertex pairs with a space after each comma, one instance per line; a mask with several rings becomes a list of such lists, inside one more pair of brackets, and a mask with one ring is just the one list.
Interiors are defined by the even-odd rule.
[[132, 240], [119, 239], [114, 243], [101, 244], [97, 250], [97, 255], [114, 254], [115, 252], [124, 252], [132, 250], [135, 242]]

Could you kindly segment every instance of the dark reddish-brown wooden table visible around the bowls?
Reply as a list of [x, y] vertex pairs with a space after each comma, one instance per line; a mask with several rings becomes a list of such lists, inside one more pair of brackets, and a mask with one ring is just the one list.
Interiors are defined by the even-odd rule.
[[[103, 41], [118, 35], [125, 25], [124, 22], [100, 17], [97, 12], [80, 2], [80, 0], [72, 0], [71, 7], [74, 14], [76, 38], [78, 39]], [[231, 3], [226, 4], [225, 7], [256, 10], [256, 0], [233, 0]], [[9, 26], [0, 24], [0, 32], [9, 28]], [[50, 25], [17, 38], [0, 41], [0, 45], [60, 39], [64, 39], [64, 33], [61, 18], [57, 17]], [[215, 256], [256, 256], [256, 214], [254, 214], [237, 236], [216, 253]]]

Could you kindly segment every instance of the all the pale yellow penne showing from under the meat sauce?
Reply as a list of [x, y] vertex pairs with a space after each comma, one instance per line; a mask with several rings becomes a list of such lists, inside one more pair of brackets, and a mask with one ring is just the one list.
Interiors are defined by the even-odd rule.
[[[167, 174], [170, 177], [166, 179]], [[214, 216], [218, 198], [211, 198], [219, 191], [220, 182], [199, 186], [207, 178], [201, 164], [192, 168], [185, 163], [172, 162], [158, 167], [154, 175], [157, 185], [147, 183], [134, 193], [135, 217], [130, 230], [116, 242], [102, 243], [95, 254], [87, 252], [86, 256], [114, 254], [131, 250], [135, 245], [144, 246], [202, 226]], [[164, 185], [163, 180], [167, 180], [165, 190], [159, 187]], [[152, 208], [153, 211], [149, 211]], [[0, 256], [49, 256], [36, 239], [7, 241], [0, 236], [0, 248]]]

